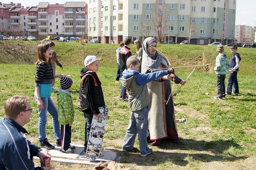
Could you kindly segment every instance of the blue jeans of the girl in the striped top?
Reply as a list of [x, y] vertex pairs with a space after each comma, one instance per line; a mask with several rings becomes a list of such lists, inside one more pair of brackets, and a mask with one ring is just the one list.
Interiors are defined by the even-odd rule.
[[[35, 96], [36, 99], [36, 96]], [[47, 122], [47, 111], [52, 115], [52, 126], [54, 136], [56, 139], [61, 139], [60, 136], [60, 123], [58, 121], [58, 110], [55, 107], [51, 98], [41, 98], [44, 103], [44, 109], [38, 108], [39, 119], [38, 119], [38, 140], [42, 141], [46, 138], [45, 126]], [[37, 102], [37, 99], [36, 99]]]

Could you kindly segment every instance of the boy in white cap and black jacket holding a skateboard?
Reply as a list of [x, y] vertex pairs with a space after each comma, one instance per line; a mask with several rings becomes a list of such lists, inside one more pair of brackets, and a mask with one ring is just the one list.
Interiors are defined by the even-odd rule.
[[[84, 128], [85, 152], [88, 145], [93, 115], [100, 118], [103, 111], [108, 111], [108, 107], [105, 105], [104, 101], [101, 82], [96, 74], [100, 59], [101, 58], [97, 58], [94, 55], [88, 55], [84, 59], [85, 67], [82, 68], [80, 72], [81, 84], [78, 109], [84, 113], [84, 118], [86, 119]], [[102, 152], [100, 152], [100, 156], [103, 156]]]

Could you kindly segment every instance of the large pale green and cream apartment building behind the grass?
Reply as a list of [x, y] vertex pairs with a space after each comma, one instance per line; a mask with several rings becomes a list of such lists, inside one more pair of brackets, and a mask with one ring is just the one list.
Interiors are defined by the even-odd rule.
[[236, 0], [88, 0], [88, 36], [101, 43], [126, 37], [161, 43], [234, 41]]

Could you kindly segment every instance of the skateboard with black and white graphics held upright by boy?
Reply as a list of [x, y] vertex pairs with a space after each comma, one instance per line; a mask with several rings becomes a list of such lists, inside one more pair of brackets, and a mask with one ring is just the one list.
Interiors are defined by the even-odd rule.
[[102, 141], [105, 133], [105, 125], [108, 115], [108, 107], [99, 108], [101, 117], [96, 118], [96, 115], [92, 117], [92, 126], [90, 130], [88, 145], [86, 149], [86, 158], [90, 161], [94, 161], [99, 158], [100, 152], [103, 151]]

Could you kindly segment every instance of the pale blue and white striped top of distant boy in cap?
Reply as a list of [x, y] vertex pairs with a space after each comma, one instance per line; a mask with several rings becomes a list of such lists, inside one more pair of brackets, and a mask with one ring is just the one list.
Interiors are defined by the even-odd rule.
[[228, 72], [229, 62], [226, 54], [220, 54], [216, 57], [216, 66], [214, 70], [217, 75], [225, 75]]

